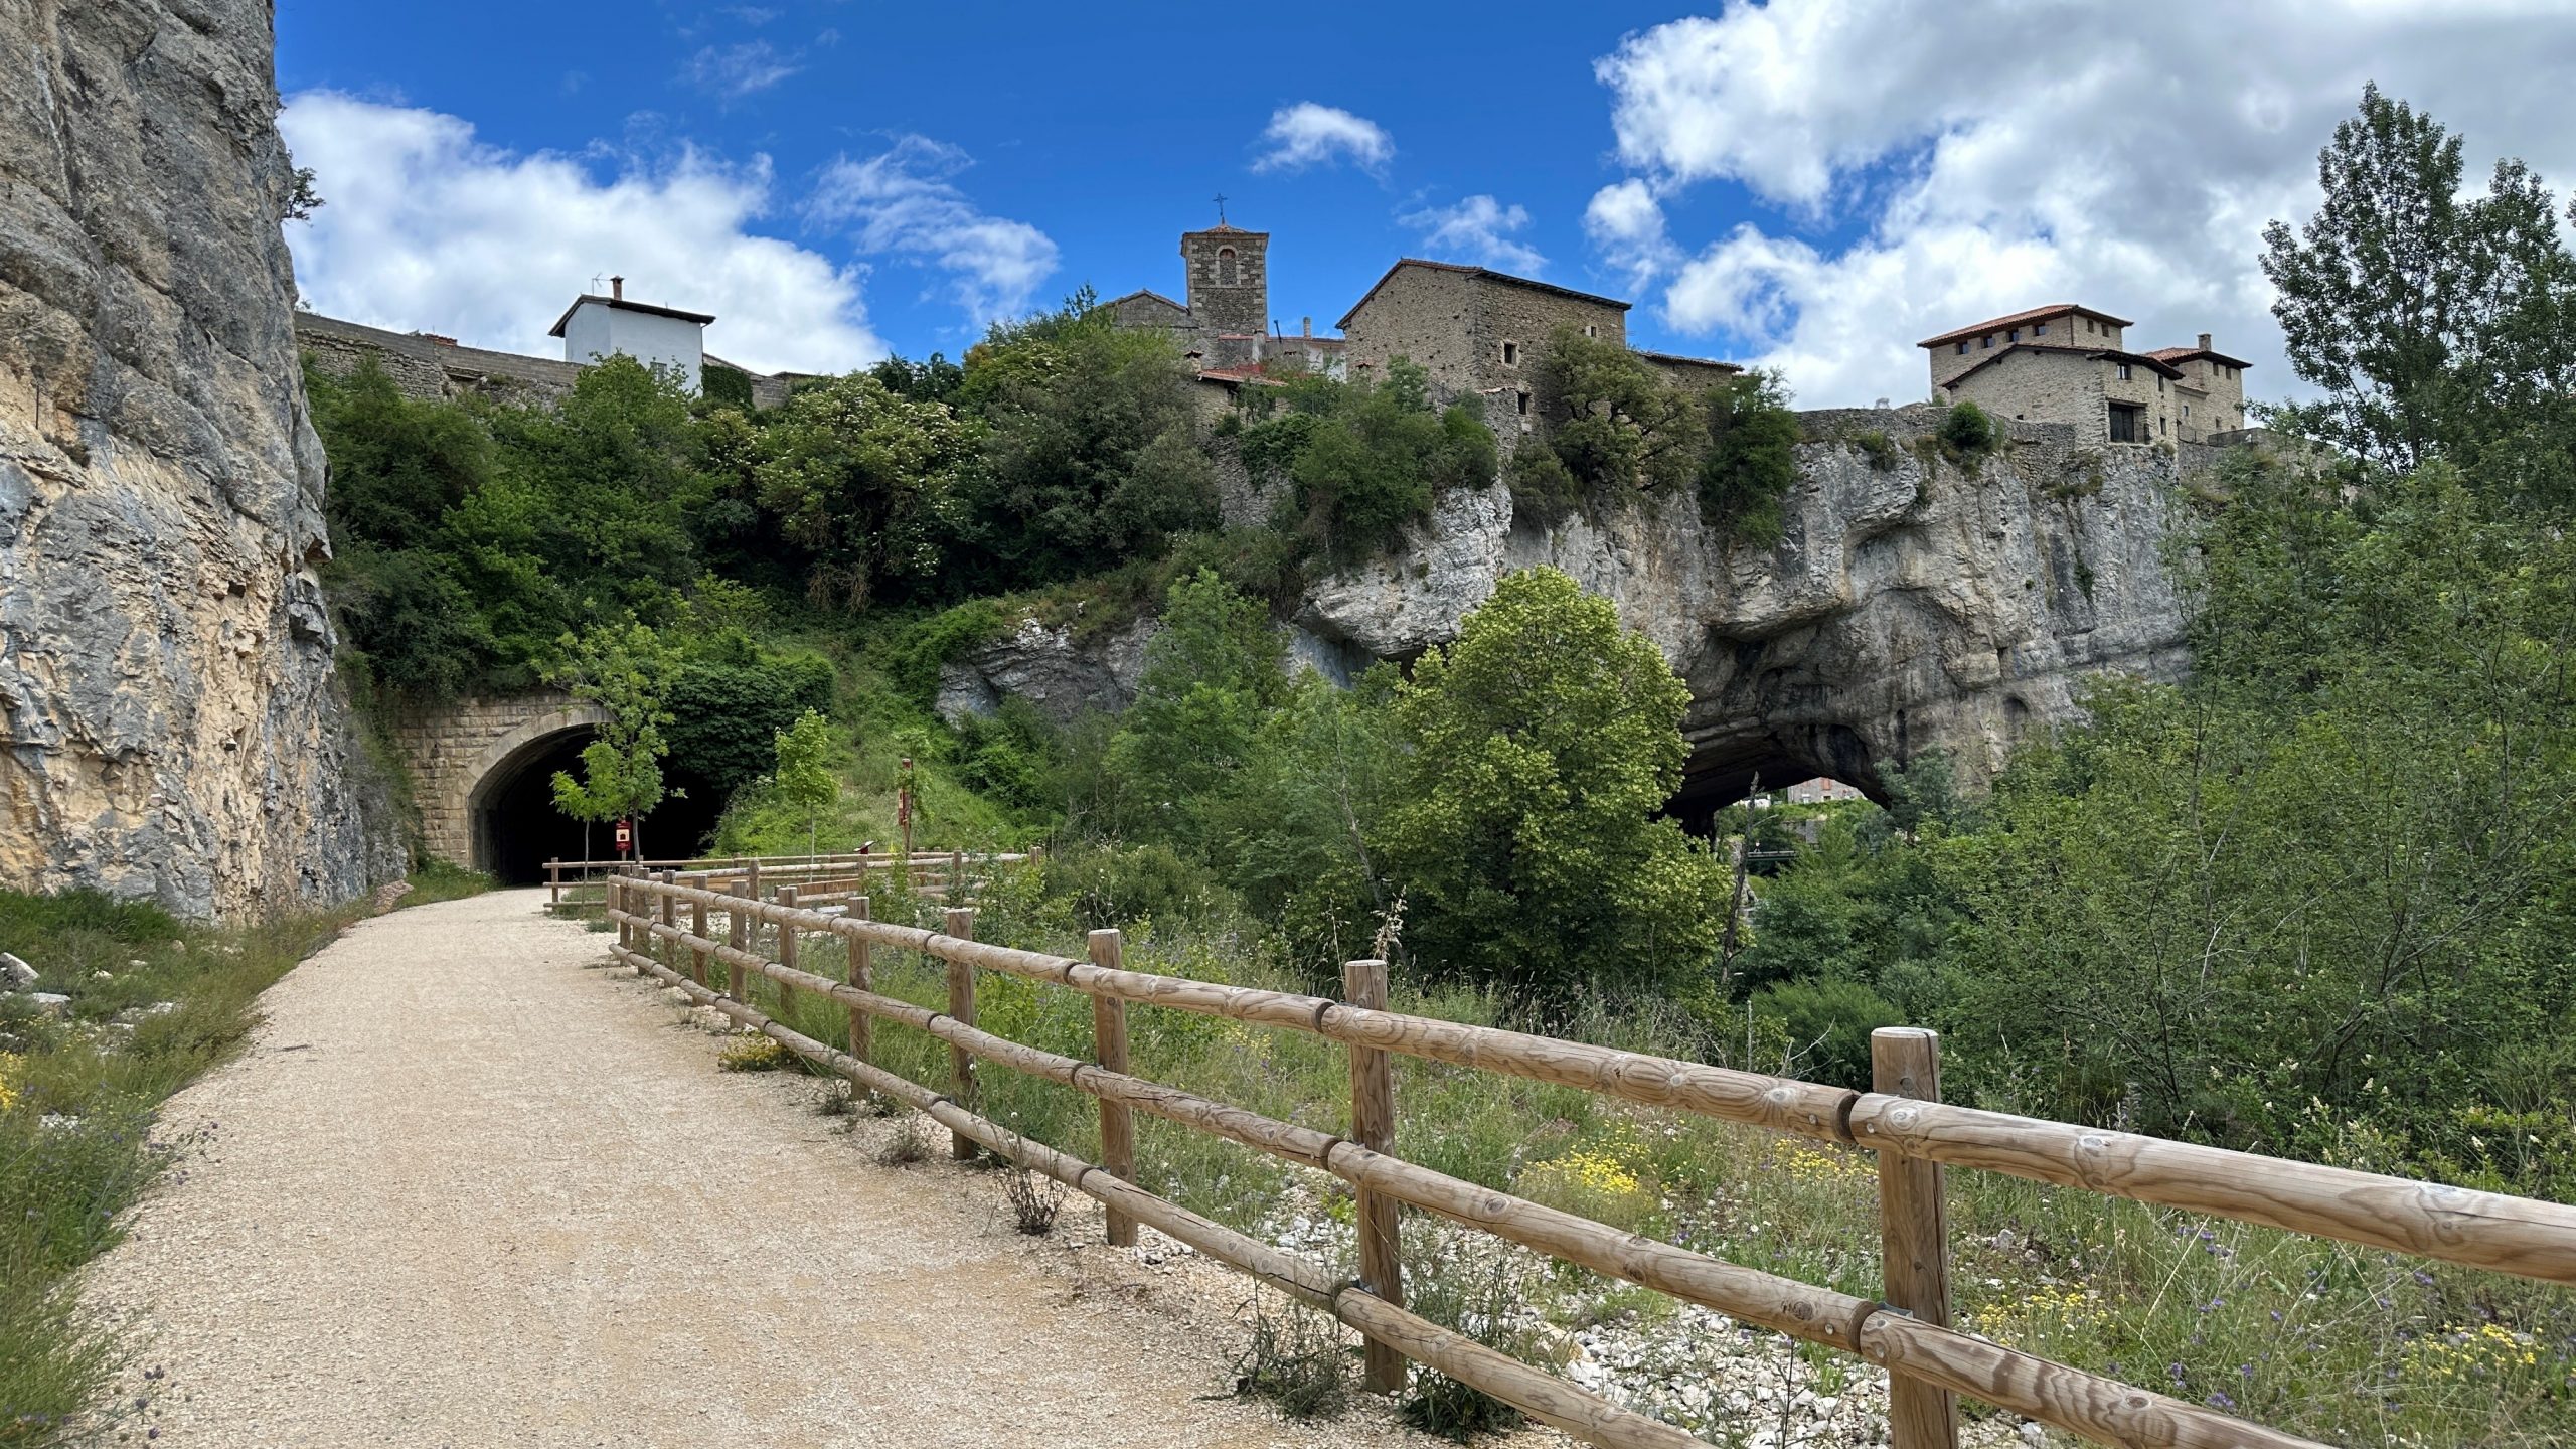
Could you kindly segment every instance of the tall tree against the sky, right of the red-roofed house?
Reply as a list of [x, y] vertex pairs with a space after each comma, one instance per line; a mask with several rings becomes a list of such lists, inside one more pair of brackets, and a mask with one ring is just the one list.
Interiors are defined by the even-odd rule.
[[2290, 369], [2324, 397], [2282, 420], [2367, 464], [2450, 459], [2506, 498], [2566, 503], [2576, 258], [2519, 160], [2463, 191], [2463, 142], [2362, 90], [2316, 157], [2324, 201], [2264, 227]]

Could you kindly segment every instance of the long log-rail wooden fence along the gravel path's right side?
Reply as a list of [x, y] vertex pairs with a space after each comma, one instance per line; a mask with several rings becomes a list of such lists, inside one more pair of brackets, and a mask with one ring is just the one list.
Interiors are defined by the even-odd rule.
[[[1128, 972], [1115, 931], [1092, 931], [1090, 959], [1074, 962], [976, 941], [974, 910], [951, 910], [945, 931], [922, 931], [871, 920], [863, 897], [853, 900], [845, 915], [822, 915], [804, 908], [793, 884], [781, 887], [778, 900], [760, 900], [747, 879], [721, 884], [724, 890], [711, 890], [667, 877], [613, 877], [608, 915], [618, 928], [616, 957], [768, 1034], [855, 1088], [930, 1114], [948, 1127], [961, 1158], [981, 1145], [1097, 1199], [1108, 1207], [1113, 1243], [1133, 1243], [1133, 1225], [1146, 1222], [1334, 1315], [1365, 1336], [1370, 1387], [1401, 1385], [1404, 1359], [1414, 1359], [1592, 1444], [1682, 1449], [1698, 1439], [1404, 1312], [1399, 1204], [1744, 1323], [1857, 1354], [1888, 1372], [1896, 1449], [1955, 1446], [1955, 1395], [1973, 1395], [2099, 1444], [2318, 1449], [2293, 1434], [1950, 1328], [1942, 1168], [2012, 1173], [2576, 1287], [2576, 1207], [1942, 1104], [1940, 1044], [1929, 1031], [1875, 1031], [1870, 1042], [1875, 1091], [1862, 1093], [1394, 1013], [1386, 1011], [1386, 962], [1352, 962], [1342, 987], [1347, 1000], [1324, 1000]], [[688, 913], [685, 926], [680, 910]], [[726, 918], [724, 938], [708, 933], [708, 913]], [[775, 962], [752, 949], [757, 926], [773, 928]], [[806, 933], [848, 944], [848, 980], [799, 969], [799, 938]], [[945, 962], [948, 1008], [927, 1011], [876, 993], [873, 946], [922, 951]], [[667, 959], [657, 959], [657, 951]], [[721, 990], [708, 980], [711, 962], [726, 967]], [[1087, 995], [1095, 1024], [1092, 1060], [979, 1031], [974, 987], [981, 969]], [[755, 1011], [744, 993], [747, 975], [848, 1006], [853, 1049], [832, 1049]], [[1267, 1119], [1128, 1073], [1128, 1003], [1224, 1016], [1350, 1047], [1350, 1134]], [[948, 1042], [948, 1088], [933, 1091], [876, 1067], [868, 1060], [873, 1021], [894, 1021]], [[1388, 1091], [1388, 1052], [1878, 1152], [1883, 1299], [1692, 1253], [1394, 1158], [1388, 1147], [1396, 1104]], [[1084, 1163], [976, 1116], [979, 1060], [1097, 1098], [1103, 1160]], [[1347, 1181], [1358, 1191], [1360, 1279], [1337, 1281], [1306, 1258], [1255, 1243], [1133, 1186], [1136, 1111]]]

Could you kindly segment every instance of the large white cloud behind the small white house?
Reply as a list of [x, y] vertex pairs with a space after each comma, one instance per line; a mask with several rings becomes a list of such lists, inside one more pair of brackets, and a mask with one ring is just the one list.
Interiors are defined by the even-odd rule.
[[394, 330], [562, 356], [546, 327], [590, 278], [629, 297], [714, 312], [708, 351], [778, 371], [842, 371], [886, 356], [858, 271], [747, 227], [768, 211], [768, 160], [701, 152], [618, 157], [600, 180], [574, 157], [479, 144], [438, 111], [307, 90], [278, 119], [330, 201], [289, 224], [314, 309]]

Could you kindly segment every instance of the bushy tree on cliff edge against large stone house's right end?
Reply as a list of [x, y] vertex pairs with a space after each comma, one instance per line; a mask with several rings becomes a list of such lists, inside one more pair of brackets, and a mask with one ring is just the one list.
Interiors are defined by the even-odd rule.
[[1620, 343], [1574, 327], [1556, 327], [1538, 358], [1538, 410], [1584, 490], [1682, 487], [1708, 454], [1700, 400]]

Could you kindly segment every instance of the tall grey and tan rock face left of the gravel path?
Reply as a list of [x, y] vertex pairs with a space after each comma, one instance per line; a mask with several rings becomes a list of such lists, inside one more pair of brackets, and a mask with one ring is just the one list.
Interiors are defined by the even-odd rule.
[[268, 0], [0, 5], [0, 884], [399, 869], [314, 565]]

